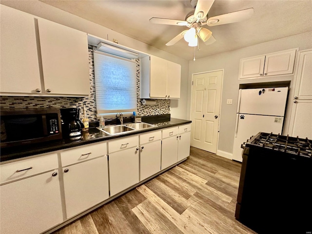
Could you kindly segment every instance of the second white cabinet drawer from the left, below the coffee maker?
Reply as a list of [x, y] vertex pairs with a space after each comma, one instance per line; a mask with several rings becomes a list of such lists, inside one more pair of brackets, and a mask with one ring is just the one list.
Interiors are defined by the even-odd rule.
[[62, 167], [107, 154], [106, 142], [90, 144], [60, 154]]

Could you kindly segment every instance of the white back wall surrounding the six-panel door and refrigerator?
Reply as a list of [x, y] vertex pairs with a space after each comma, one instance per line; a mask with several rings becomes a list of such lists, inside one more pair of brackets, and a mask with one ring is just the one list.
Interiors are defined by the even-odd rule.
[[[211, 45], [213, 46], [213, 44]], [[223, 90], [221, 98], [220, 111], [220, 132], [218, 139], [218, 151], [223, 151], [232, 154], [234, 143], [234, 129], [235, 129], [235, 114], [238, 99], [238, 70], [239, 60], [242, 58], [263, 55], [266, 53], [273, 53], [281, 50], [287, 50], [299, 47], [299, 50], [312, 48], [312, 31], [295, 35], [292, 37], [277, 39], [260, 43], [257, 45], [245, 47], [242, 49], [209, 56], [202, 59], [190, 61], [189, 66], [189, 89], [188, 89], [188, 113], [191, 108], [191, 89], [192, 89], [192, 74], [199, 72], [207, 72], [213, 70], [224, 69]], [[274, 77], [253, 79], [251, 82], [269, 82], [279, 80], [291, 80], [293, 76]], [[248, 82], [248, 81], [247, 81]], [[290, 87], [292, 91], [292, 83]], [[291, 94], [290, 94], [291, 96]], [[233, 105], [227, 105], [226, 100], [233, 99]], [[291, 104], [291, 103], [289, 103]], [[289, 106], [287, 107], [290, 109]], [[287, 118], [289, 113], [287, 113]], [[190, 114], [187, 117], [190, 119]], [[247, 139], [246, 139], [247, 140]]]

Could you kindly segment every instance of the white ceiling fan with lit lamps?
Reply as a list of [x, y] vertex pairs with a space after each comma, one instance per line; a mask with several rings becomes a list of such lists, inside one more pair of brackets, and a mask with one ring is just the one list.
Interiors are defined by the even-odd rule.
[[254, 14], [254, 8], [248, 8], [241, 11], [215, 16], [208, 18], [208, 12], [215, 0], [191, 0], [191, 4], [195, 10], [189, 12], [185, 20], [171, 20], [164, 18], [151, 18], [151, 23], [169, 24], [178, 26], [187, 26], [188, 30], [182, 31], [174, 39], [170, 40], [166, 45], [174, 45], [177, 41], [184, 39], [189, 42], [189, 46], [198, 45], [198, 37], [206, 44], [210, 45], [215, 42], [212, 32], [204, 28], [204, 25], [216, 26], [226, 23], [234, 23], [249, 19]]

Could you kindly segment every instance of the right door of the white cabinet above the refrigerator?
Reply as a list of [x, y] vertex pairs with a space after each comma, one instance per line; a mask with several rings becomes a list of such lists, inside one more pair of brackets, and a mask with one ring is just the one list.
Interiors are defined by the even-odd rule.
[[270, 54], [265, 57], [264, 76], [292, 74], [296, 50]]

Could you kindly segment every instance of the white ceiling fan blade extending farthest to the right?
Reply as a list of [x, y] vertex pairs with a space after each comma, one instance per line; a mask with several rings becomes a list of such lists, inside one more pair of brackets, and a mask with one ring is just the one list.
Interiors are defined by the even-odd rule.
[[220, 16], [214, 16], [207, 20], [208, 26], [215, 26], [220, 24], [226, 24], [226, 23], [234, 23], [239, 22], [243, 20], [247, 20], [254, 14], [254, 8], [248, 8], [241, 11], [235, 11], [232, 13], [220, 15]]

